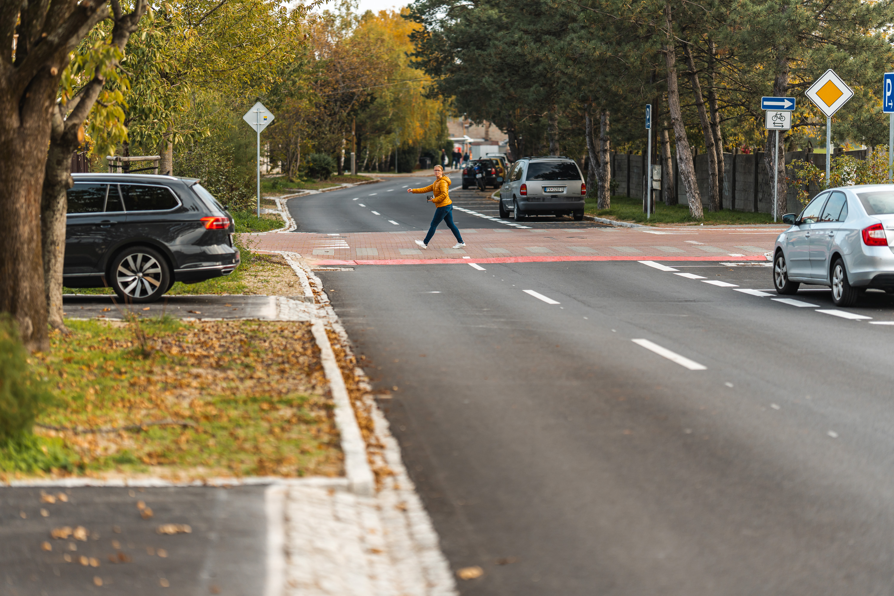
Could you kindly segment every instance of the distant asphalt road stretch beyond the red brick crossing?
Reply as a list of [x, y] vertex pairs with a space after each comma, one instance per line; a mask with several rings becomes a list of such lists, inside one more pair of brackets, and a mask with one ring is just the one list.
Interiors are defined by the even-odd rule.
[[[450, 196], [453, 202], [453, 222], [462, 228], [594, 228], [601, 223], [575, 222], [572, 218], [553, 215], [528, 217], [523, 223], [504, 219], [494, 222], [482, 215], [499, 217], [497, 202], [485, 192], [462, 189], [462, 176], [448, 172], [451, 179]], [[333, 190], [307, 197], [292, 198], [288, 202], [291, 216], [298, 223], [295, 231], [345, 233], [358, 231], [427, 231], [432, 221], [434, 206], [426, 195], [409, 194], [407, 189], [421, 189], [434, 178], [393, 177], [375, 184], [364, 184], [352, 189]], [[442, 230], [447, 230], [441, 224]]]

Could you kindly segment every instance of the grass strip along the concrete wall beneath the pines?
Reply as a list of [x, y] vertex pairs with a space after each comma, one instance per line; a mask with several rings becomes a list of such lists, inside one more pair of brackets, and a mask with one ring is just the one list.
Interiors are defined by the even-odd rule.
[[755, 214], [746, 211], [730, 211], [725, 209], [716, 212], [704, 212], [704, 219], [696, 220], [689, 216], [689, 206], [667, 206], [659, 202], [655, 204], [655, 213], [649, 219], [643, 213], [643, 201], [639, 198], [623, 197], [615, 195], [611, 197], [611, 209], [597, 209], [596, 198], [586, 197], [586, 214], [620, 220], [621, 222], [636, 222], [648, 225], [659, 223], [684, 223], [684, 224], [745, 224], [745, 223], [772, 223], [772, 214]]

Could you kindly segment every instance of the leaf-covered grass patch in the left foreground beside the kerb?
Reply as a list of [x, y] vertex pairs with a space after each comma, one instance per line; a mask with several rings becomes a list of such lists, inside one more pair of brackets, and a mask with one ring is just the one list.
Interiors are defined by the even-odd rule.
[[309, 323], [69, 321], [31, 357], [56, 404], [0, 445], [10, 475], [342, 473]]

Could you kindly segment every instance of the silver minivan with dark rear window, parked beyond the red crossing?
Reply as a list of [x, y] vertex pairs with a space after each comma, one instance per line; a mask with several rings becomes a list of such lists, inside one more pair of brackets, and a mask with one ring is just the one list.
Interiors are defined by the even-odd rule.
[[500, 217], [516, 222], [528, 215], [573, 215], [584, 219], [586, 183], [578, 164], [564, 155], [522, 157], [500, 189]]

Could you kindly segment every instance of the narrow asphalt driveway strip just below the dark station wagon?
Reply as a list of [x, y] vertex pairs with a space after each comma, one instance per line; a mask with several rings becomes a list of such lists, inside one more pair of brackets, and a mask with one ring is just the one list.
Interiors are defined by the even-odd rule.
[[264, 319], [276, 317], [274, 296], [165, 296], [151, 304], [125, 304], [114, 295], [66, 294], [63, 310], [68, 318], [123, 319], [129, 313], [140, 316], [170, 315], [180, 319]]

